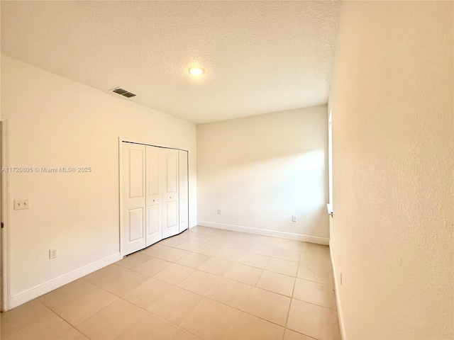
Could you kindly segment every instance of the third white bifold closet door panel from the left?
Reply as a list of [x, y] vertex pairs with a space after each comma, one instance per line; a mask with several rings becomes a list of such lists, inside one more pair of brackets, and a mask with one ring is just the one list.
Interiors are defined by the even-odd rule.
[[161, 149], [162, 162], [162, 238], [179, 232], [178, 150]]

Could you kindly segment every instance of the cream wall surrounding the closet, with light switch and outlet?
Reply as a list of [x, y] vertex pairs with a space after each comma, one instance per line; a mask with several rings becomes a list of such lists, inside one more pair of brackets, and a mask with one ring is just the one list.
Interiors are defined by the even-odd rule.
[[[196, 225], [194, 124], [4, 55], [1, 83], [10, 166], [92, 168], [9, 175], [13, 300], [23, 302], [21, 293], [118, 254], [118, 137], [189, 150], [189, 216]], [[13, 210], [18, 198], [30, 199], [31, 208]], [[54, 247], [58, 257], [49, 260]]]

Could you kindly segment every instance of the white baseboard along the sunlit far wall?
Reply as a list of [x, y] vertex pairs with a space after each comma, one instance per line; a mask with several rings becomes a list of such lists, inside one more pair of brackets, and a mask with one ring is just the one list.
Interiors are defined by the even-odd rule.
[[282, 237], [282, 239], [296, 239], [297, 241], [323, 244], [326, 246], [329, 244], [329, 239], [326, 237], [292, 234], [290, 232], [276, 232], [274, 230], [242, 227], [240, 225], [226, 225], [224, 223], [208, 222], [208, 221], [197, 221], [197, 225], [201, 225], [202, 227], [233, 230], [234, 232], [248, 232], [250, 234], [259, 234], [259, 235], [271, 236], [271, 237]]

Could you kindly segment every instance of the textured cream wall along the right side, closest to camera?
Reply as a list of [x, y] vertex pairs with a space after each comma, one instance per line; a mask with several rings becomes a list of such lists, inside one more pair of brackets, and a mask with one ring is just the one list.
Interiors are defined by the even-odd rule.
[[453, 4], [342, 5], [329, 106], [344, 339], [453, 339]]

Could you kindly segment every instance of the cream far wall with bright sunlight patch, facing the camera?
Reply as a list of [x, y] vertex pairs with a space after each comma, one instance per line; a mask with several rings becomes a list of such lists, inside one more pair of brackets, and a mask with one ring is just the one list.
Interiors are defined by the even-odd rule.
[[197, 125], [199, 225], [327, 243], [326, 113], [314, 106]]

